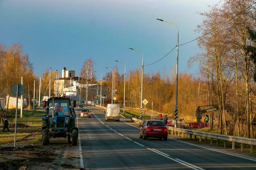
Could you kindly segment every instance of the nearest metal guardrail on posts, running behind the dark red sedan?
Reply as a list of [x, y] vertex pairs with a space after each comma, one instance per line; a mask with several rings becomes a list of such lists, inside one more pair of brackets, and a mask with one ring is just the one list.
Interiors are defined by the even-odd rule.
[[[135, 122], [137, 124], [142, 124], [144, 120], [136, 119], [136, 118], [131, 118], [132, 122]], [[176, 128], [172, 126], [167, 126], [167, 129], [169, 131], [169, 134], [171, 133], [176, 136], [178, 132], [178, 136], [180, 136], [180, 133], [182, 133], [182, 137], [184, 137], [184, 133], [186, 135], [190, 135], [190, 140], [192, 139], [192, 135], [194, 135], [194, 139], [196, 141], [197, 136], [199, 136], [199, 141], [201, 142], [201, 137], [205, 137], [205, 143], [207, 143], [207, 138], [211, 139], [211, 144], [213, 144], [213, 139], [217, 139], [217, 145], [219, 145], [219, 140], [224, 140], [224, 148], [227, 148], [227, 141], [232, 142], [232, 149], [235, 149], [235, 142], [241, 143], [241, 151], [243, 151], [243, 144], [248, 144], [251, 146], [251, 153], [253, 153], [253, 146], [256, 145], [256, 139], [252, 138], [243, 138], [243, 137], [238, 137], [238, 136], [229, 136], [229, 135], [220, 135], [217, 133], [208, 133], [208, 132], [201, 132], [201, 131], [196, 131], [196, 130], [188, 130], [188, 129], [181, 129], [181, 128]]]

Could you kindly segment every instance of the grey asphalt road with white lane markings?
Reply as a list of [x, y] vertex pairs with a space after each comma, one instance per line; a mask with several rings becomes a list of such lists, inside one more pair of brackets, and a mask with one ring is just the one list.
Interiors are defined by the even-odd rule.
[[222, 150], [198, 147], [184, 141], [139, 138], [130, 119], [105, 122], [103, 111], [87, 107], [91, 118], [77, 123], [81, 141], [80, 162], [85, 169], [256, 169], [256, 159]]

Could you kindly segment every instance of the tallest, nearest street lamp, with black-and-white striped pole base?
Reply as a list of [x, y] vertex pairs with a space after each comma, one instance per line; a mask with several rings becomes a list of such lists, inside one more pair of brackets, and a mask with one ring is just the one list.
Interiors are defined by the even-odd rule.
[[[159, 21], [164, 21], [162, 19], [157, 19]], [[168, 22], [168, 21], [164, 21], [164, 22]], [[174, 120], [175, 120], [175, 127], [177, 125], [177, 120], [178, 120], [178, 52], [179, 52], [179, 30], [177, 28], [177, 26], [172, 23], [172, 22], [168, 22], [171, 23], [172, 25], [174, 25], [177, 29], [177, 61], [176, 61], [176, 95], [175, 95], [175, 111], [174, 111]]]

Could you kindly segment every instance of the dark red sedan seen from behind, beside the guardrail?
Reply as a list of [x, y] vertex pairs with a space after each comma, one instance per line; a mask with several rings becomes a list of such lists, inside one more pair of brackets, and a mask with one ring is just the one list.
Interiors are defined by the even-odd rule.
[[161, 120], [147, 120], [142, 125], [139, 125], [140, 128], [140, 138], [159, 138], [162, 140], [167, 140], [168, 129], [164, 125], [164, 122]]

